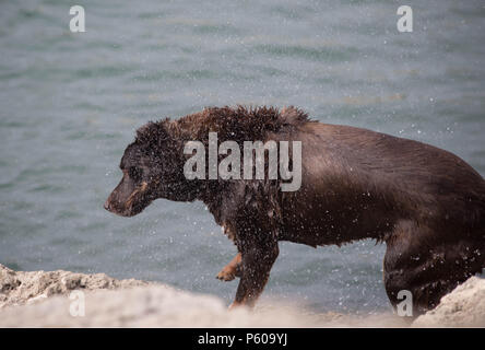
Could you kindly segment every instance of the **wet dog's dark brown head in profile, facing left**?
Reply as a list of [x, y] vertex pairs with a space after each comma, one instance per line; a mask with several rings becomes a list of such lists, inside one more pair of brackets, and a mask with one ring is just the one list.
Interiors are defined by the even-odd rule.
[[179, 141], [170, 137], [168, 120], [149, 122], [137, 131], [121, 158], [121, 182], [105, 202], [105, 209], [133, 217], [153, 200], [194, 200], [184, 176], [184, 156]]

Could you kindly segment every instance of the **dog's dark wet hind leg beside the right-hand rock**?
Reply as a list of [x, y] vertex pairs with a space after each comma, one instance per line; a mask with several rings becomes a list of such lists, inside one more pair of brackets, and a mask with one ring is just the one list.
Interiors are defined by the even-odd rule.
[[[459, 234], [459, 233], [457, 233]], [[383, 262], [386, 292], [395, 307], [410, 291], [413, 316], [436, 307], [458, 284], [482, 271], [484, 243], [470, 237], [436, 240], [430, 229], [412, 221], [397, 225], [387, 240]]]

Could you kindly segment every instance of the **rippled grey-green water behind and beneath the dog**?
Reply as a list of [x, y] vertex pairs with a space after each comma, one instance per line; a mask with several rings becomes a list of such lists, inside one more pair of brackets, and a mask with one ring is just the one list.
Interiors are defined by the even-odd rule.
[[[71, 5], [85, 33], [71, 33]], [[106, 272], [215, 294], [236, 254], [201, 202], [134, 218], [103, 203], [134, 130], [222, 105], [447, 149], [485, 175], [485, 2], [0, 0], [0, 264]], [[385, 245], [281, 244], [264, 298], [317, 312], [390, 311]]]

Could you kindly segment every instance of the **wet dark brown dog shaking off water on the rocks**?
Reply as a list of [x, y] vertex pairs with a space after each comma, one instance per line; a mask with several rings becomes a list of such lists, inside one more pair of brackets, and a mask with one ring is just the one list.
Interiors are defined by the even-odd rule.
[[[281, 180], [187, 179], [187, 141], [301, 141], [301, 187]], [[240, 277], [235, 304], [255, 303], [279, 241], [310, 246], [385, 242], [385, 284], [393, 305], [411, 291], [417, 313], [485, 266], [485, 182], [458, 156], [421, 142], [310, 121], [296, 108], [206, 108], [138, 130], [105, 203], [134, 215], [157, 198], [202, 200], [238, 255], [218, 275]]]

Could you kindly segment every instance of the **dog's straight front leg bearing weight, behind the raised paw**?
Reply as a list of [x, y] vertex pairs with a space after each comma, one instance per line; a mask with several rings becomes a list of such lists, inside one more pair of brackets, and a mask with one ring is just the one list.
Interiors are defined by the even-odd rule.
[[241, 249], [241, 277], [236, 299], [230, 307], [253, 306], [270, 277], [270, 270], [279, 255], [277, 242], [264, 242]]

